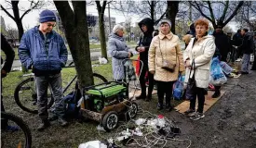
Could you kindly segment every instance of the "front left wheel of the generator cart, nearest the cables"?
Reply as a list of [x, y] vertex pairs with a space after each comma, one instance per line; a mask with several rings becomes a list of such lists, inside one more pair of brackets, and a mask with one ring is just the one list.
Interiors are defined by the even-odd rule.
[[108, 112], [102, 119], [102, 126], [106, 131], [115, 129], [118, 124], [118, 115], [115, 111]]

